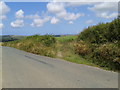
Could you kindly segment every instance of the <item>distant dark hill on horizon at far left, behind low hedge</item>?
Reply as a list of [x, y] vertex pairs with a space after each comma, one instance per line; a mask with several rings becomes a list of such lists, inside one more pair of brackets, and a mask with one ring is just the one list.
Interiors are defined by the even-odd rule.
[[3, 36], [0, 36], [0, 42], [15, 41], [23, 38], [25, 38], [25, 36], [3, 35]]

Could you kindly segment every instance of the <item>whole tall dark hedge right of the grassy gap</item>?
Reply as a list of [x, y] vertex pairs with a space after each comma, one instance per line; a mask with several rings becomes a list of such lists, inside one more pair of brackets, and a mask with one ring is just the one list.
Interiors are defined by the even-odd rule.
[[78, 35], [75, 52], [109, 70], [120, 70], [120, 19], [88, 27]]

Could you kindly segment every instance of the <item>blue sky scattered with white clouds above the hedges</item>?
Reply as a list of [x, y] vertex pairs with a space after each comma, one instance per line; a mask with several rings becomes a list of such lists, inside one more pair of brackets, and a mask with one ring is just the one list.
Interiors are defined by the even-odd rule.
[[78, 34], [118, 16], [117, 2], [0, 2], [0, 35]]

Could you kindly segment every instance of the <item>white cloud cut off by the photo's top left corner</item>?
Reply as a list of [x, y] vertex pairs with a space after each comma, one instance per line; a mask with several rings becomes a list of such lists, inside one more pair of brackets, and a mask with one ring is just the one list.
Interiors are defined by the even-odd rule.
[[9, 11], [10, 8], [3, 1], [0, 1], [0, 19], [6, 19], [6, 14]]

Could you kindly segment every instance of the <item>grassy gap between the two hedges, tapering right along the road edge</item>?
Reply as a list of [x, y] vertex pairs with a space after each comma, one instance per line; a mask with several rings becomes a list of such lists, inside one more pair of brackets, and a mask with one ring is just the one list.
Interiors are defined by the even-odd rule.
[[84, 65], [98, 67], [104, 70], [109, 70], [109, 68], [107, 67], [100, 67], [99, 65], [94, 64], [91, 59], [87, 59], [85, 57], [76, 54], [74, 51], [74, 44], [76, 43], [76, 38], [77, 35], [56, 37], [57, 39], [56, 58], [60, 58], [62, 60], [66, 60], [76, 64], [84, 64]]

